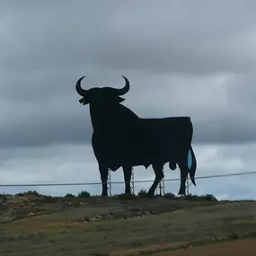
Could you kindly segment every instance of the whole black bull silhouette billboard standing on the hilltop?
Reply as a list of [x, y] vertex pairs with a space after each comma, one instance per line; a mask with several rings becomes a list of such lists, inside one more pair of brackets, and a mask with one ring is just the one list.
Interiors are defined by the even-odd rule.
[[[194, 180], [197, 162], [191, 146], [193, 126], [190, 117], [142, 119], [132, 110], [120, 104], [125, 99], [120, 96], [128, 93], [129, 82], [121, 89], [110, 87], [84, 90], [81, 77], [76, 92], [83, 96], [80, 103], [89, 104], [93, 125], [93, 152], [99, 164], [102, 180], [102, 196], [108, 196], [107, 179], [109, 169], [117, 171], [122, 167], [125, 180], [125, 193], [130, 193], [131, 170], [133, 166], [152, 165], [154, 183], [147, 195], [154, 196], [154, 190], [163, 179], [163, 165], [169, 163], [171, 170], [177, 164], [181, 170], [180, 195], [185, 194], [185, 182], [190, 173]], [[188, 155], [192, 163], [188, 166]]]

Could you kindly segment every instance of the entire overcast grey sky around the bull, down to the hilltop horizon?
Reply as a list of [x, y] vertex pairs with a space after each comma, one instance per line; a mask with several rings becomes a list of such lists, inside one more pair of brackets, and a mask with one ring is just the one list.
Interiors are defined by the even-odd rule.
[[[0, 0], [0, 184], [100, 182], [88, 106], [75, 93], [124, 84], [140, 117], [190, 116], [196, 176], [252, 172], [256, 153], [254, 0]], [[167, 179], [180, 171], [165, 168]], [[122, 181], [122, 170], [112, 172]], [[154, 178], [135, 168], [136, 180]], [[198, 180], [193, 194], [256, 199], [256, 175]], [[178, 193], [180, 182], [166, 182]], [[136, 184], [136, 191], [150, 187]], [[91, 187], [18, 187], [64, 195]], [[113, 193], [124, 191], [113, 185]]]

